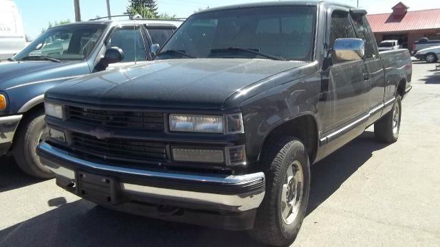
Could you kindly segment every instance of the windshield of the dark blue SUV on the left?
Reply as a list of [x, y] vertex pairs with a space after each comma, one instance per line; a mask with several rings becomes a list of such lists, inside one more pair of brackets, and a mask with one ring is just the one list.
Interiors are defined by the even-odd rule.
[[106, 25], [79, 24], [53, 27], [25, 47], [14, 60], [83, 60], [89, 56]]

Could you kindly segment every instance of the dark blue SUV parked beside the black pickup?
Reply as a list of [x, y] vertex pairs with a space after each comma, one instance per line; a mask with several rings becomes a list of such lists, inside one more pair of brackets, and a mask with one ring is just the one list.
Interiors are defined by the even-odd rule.
[[61, 25], [41, 34], [10, 62], [1, 62], [0, 155], [11, 152], [24, 172], [52, 177], [35, 153], [48, 135], [43, 106], [47, 89], [81, 75], [151, 60], [152, 48], [159, 49], [182, 22], [136, 19]]

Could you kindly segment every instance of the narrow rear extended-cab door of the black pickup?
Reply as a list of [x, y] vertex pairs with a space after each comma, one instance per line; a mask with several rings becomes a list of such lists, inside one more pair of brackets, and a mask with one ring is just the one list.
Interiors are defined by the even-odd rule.
[[365, 41], [365, 65], [368, 74], [365, 76], [365, 83], [369, 84], [369, 123], [374, 123], [380, 118], [382, 113], [382, 103], [385, 93], [385, 75], [382, 60], [379, 57], [379, 51], [376, 48], [376, 40], [373, 32], [366, 21], [365, 16], [351, 15], [353, 27], [358, 38]]

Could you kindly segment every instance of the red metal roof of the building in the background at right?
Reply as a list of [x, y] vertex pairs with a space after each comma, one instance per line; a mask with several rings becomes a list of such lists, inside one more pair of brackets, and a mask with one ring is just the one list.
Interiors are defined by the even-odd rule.
[[440, 9], [408, 11], [405, 15], [369, 14], [373, 32], [401, 32], [440, 29]]

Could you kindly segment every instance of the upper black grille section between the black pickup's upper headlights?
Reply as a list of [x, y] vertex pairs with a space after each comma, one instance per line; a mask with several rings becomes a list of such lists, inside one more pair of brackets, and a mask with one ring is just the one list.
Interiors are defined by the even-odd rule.
[[97, 126], [123, 127], [142, 130], [164, 130], [164, 115], [142, 111], [96, 110], [66, 107], [66, 117], [72, 121]]

